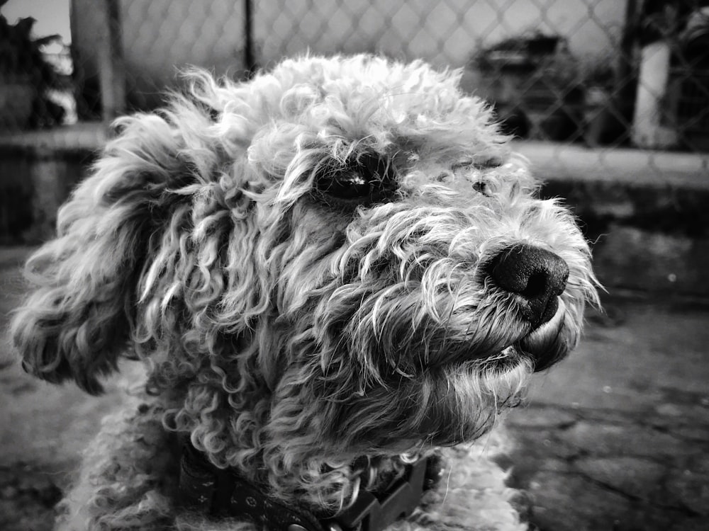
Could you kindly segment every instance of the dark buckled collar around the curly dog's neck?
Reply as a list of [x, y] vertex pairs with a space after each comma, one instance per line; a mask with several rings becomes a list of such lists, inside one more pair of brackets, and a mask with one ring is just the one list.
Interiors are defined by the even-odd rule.
[[357, 501], [333, 518], [272, 498], [233, 469], [215, 467], [189, 442], [180, 459], [182, 506], [213, 516], [246, 518], [269, 531], [381, 531], [411, 515], [441, 474], [440, 458], [423, 457], [384, 493], [360, 489]]

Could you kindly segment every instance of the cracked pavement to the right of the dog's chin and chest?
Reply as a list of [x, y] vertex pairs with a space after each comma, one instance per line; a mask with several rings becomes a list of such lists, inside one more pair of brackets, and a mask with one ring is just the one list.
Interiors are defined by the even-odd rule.
[[607, 299], [508, 426], [546, 531], [709, 530], [709, 309]]

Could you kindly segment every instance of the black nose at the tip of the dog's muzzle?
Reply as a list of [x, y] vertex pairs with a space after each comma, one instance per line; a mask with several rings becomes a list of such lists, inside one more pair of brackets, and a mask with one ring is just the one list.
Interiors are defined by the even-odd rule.
[[540, 326], [552, 319], [564, 292], [569, 266], [560, 256], [527, 244], [503, 249], [486, 265], [501, 290], [520, 295], [523, 319]]

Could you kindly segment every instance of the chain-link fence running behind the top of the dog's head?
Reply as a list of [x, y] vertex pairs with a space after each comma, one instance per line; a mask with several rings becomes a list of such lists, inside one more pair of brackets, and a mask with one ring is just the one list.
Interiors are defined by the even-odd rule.
[[154, 108], [164, 88], [179, 83], [176, 65], [245, 78], [306, 51], [374, 52], [462, 68], [462, 88], [491, 101], [520, 139], [591, 147], [601, 159], [618, 148], [686, 152], [707, 170], [709, 0], [71, 6], [70, 57], [68, 48], [47, 57], [47, 39], [32, 40], [27, 23], [3, 19], [0, 134]]

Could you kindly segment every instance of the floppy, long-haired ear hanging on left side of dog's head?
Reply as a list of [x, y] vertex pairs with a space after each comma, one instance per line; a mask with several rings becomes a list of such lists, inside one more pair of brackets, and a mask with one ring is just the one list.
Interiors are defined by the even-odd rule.
[[30, 257], [33, 285], [11, 324], [23, 368], [49, 382], [73, 378], [91, 394], [116, 369], [133, 329], [138, 278], [182, 188], [192, 178], [179, 160], [180, 135], [164, 118], [118, 123], [93, 174], [57, 219], [57, 238]]

